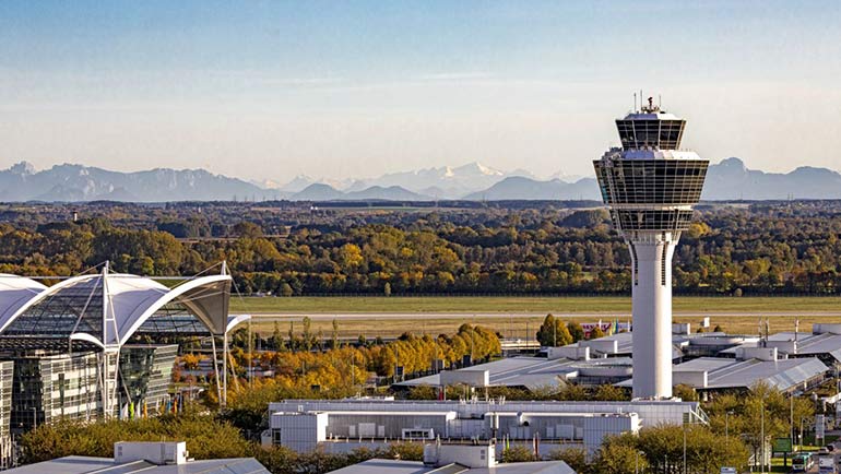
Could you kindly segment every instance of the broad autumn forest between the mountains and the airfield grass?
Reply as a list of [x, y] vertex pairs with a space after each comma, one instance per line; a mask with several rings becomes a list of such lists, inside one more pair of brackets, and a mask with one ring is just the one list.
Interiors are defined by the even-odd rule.
[[[685, 295], [841, 293], [841, 202], [707, 204], [675, 251]], [[244, 295], [629, 292], [599, 208], [317, 209], [289, 203], [0, 206], [0, 272], [192, 275], [226, 260]]]

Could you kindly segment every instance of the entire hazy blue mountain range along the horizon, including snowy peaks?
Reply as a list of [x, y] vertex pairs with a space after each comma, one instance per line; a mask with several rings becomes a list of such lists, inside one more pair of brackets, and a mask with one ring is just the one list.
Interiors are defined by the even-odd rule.
[[[594, 178], [541, 180], [524, 170], [501, 171], [479, 163], [391, 173], [344, 181], [298, 176], [277, 186], [214, 175], [204, 169], [156, 168], [121, 173], [63, 164], [36, 170], [26, 162], [0, 170], [0, 201], [433, 201], [600, 200]], [[841, 199], [841, 174], [799, 167], [777, 174], [748, 169], [739, 158], [710, 165], [702, 199]]]

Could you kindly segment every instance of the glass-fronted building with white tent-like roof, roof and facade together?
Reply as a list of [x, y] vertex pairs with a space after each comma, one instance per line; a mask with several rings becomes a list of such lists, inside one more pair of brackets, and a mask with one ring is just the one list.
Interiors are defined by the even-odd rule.
[[177, 343], [208, 335], [224, 341], [232, 324], [247, 319], [228, 317], [230, 285], [224, 264], [218, 274], [175, 287], [112, 273], [107, 263], [49, 287], [1, 274], [3, 462], [9, 435], [39, 424], [164, 410]]

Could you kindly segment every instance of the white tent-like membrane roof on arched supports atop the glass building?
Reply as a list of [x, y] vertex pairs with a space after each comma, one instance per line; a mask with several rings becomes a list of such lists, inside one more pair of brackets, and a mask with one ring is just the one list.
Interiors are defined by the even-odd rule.
[[98, 348], [120, 347], [138, 333], [225, 334], [248, 317], [230, 320], [232, 277], [187, 280], [173, 288], [152, 279], [102, 272], [50, 287], [0, 275], [0, 343], [60, 347], [71, 341]]

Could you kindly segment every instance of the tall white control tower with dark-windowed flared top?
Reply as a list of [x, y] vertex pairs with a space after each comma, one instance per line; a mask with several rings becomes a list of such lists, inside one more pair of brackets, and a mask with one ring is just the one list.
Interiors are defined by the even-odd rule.
[[672, 256], [709, 165], [679, 150], [685, 126], [649, 98], [616, 120], [621, 147], [593, 162], [614, 227], [630, 248], [635, 399], [672, 398]]

